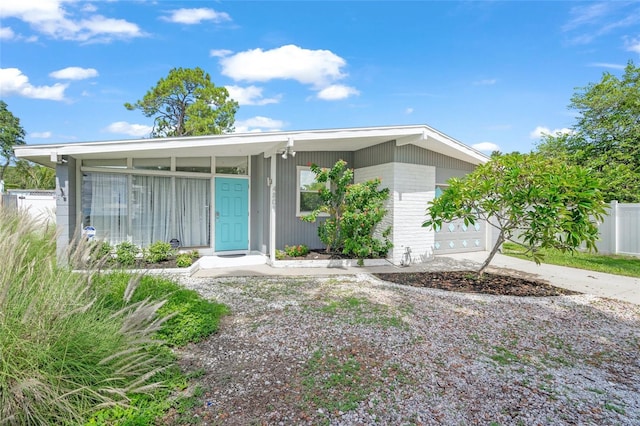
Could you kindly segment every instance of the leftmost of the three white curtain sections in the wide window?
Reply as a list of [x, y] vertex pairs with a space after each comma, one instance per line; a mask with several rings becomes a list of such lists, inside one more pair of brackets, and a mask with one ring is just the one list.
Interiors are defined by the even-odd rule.
[[[88, 201], [89, 209], [85, 211], [85, 225], [96, 228], [96, 238], [118, 244], [127, 239], [128, 229], [128, 190], [127, 176], [89, 173], [83, 185], [83, 199]], [[83, 203], [84, 204], [84, 203]]]

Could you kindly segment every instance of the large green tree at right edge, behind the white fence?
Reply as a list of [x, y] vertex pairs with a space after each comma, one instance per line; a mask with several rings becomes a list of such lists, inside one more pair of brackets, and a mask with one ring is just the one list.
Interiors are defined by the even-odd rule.
[[629, 62], [621, 78], [604, 73], [569, 107], [579, 113], [574, 133], [546, 136], [537, 150], [587, 167], [606, 201], [640, 202], [640, 68]]

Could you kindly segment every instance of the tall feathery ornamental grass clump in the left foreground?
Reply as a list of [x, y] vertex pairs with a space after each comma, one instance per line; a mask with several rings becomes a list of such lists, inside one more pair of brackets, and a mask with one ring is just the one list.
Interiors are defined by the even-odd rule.
[[56, 264], [55, 230], [0, 208], [0, 425], [84, 423], [96, 410], [153, 392], [171, 362], [154, 335], [163, 306], [119, 309], [92, 274]]

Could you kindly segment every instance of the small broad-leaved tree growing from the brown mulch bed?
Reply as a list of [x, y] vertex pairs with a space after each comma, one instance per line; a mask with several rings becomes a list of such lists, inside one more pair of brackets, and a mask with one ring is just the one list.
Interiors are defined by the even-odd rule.
[[442, 228], [443, 222], [486, 220], [498, 231], [482, 276], [505, 241], [524, 246], [536, 263], [540, 248], [573, 252], [583, 243], [596, 250], [596, 221], [602, 221], [605, 203], [598, 181], [579, 166], [540, 154], [494, 155], [464, 178], [452, 178], [449, 187], [427, 209], [423, 226]]

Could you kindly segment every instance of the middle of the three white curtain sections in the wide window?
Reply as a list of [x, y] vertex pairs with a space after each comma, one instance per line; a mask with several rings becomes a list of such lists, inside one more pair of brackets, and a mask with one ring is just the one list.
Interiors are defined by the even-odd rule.
[[171, 239], [171, 178], [133, 176], [131, 200], [133, 243], [146, 247]]

